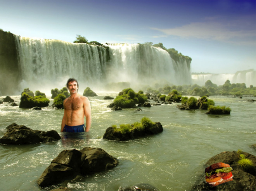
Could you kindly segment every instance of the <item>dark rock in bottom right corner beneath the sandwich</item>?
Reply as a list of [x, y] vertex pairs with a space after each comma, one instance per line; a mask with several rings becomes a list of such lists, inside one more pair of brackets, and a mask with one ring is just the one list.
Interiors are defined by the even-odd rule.
[[244, 169], [239, 164], [239, 153], [233, 152], [222, 152], [206, 162], [206, 167], [218, 163], [224, 162], [229, 164], [233, 168], [233, 181], [225, 182], [216, 187], [210, 186], [205, 182], [205, 176], [202, 174], [199, 183], [193, 187], [192, 190], [223, 190], [223, 191], [243, 191], [243, 190], [256, 190], [256, 157], [246, 152], [241, 152], [247, 159], [253, 162], [251, 168]]

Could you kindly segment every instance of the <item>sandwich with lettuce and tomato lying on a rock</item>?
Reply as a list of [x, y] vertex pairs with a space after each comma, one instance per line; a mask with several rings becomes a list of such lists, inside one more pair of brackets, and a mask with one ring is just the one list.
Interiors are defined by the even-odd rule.
[[205, 181], [211, 186], [217, 186], [233, 180], [232, 167], [229, 164], [218, 162], [205, 169]]

